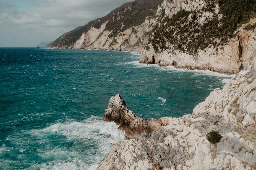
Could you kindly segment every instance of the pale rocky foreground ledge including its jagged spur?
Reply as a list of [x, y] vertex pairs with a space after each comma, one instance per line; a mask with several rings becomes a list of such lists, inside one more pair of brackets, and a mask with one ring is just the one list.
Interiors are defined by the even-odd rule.
[[256, 169], [255, 71], [212, 91], [191, 115], [143, 120], [116, 95], [104, 120], [130, 140], [118, 142], [98, 170]]

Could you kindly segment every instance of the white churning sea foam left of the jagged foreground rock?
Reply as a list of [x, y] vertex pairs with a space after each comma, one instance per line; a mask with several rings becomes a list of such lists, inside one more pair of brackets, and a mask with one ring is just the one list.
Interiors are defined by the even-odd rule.
[[[65, 123], [55, 123], [46, 128], [31, 130], [28, 133], [42, 140], [40, 143], [44, 143], [47, 136], [52, 135], [65, 136], [65, 141], [75, 142], [72, 150], [61, 146], [54, 149], [51, 147], [39, 149], [38, 153], [42, 159], [54, 158], [54, 160], [44, 164], [35, 164], [31, 168], [94, 170], [113, 145], [124, 140], [124, 133], [117, 127], [114, 122], [104, 122], [102, 117], [91, 116], [82, 122], [68, 120]], [[93, 148], [86, 150], [92, 145]]]

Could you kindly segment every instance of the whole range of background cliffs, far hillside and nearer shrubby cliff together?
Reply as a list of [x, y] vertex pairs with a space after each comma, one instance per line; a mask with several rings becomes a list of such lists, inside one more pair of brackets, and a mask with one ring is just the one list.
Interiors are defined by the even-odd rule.
[[140, 51], [140, 63], [237, 73], [256, 67], [255, 0], [135, 0], [50, 48]]

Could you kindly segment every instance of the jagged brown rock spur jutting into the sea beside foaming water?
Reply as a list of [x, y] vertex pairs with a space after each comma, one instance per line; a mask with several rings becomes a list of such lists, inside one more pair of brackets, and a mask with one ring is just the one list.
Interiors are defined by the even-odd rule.
[[104, 121], [115, 122], [119, 128], [126, 132], [126, 139], [137, 139], [142, 134], [148, 135], [153, 130], [169, 124], [167, 117], [161, 119], [141, 119], [130, 111], [119, 94], [111, 97], [108, 109], [104, 113]]

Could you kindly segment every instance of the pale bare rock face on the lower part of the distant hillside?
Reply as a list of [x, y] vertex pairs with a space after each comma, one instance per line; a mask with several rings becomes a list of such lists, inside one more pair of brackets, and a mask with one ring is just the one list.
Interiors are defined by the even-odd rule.
[[[148, 35], [145, 35], [145, 33], [151, 30], [150, 21], [146, 20], [139, 26], [130, 27], [120, 32], [116, 37], [109, 36], [111, 31], [105, 30], [106, 24], [107, 22], [102, 24], [99, 29], [91, 27], [90, 30], [78, 40], [80, 46], [74, 47], [101, 50], [144, 50], [144, 46], [148, 42]], [[81, 39], [83, 39], [83, 42], [81, 42]]]

